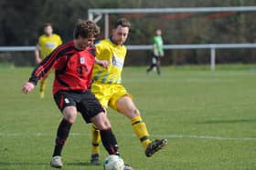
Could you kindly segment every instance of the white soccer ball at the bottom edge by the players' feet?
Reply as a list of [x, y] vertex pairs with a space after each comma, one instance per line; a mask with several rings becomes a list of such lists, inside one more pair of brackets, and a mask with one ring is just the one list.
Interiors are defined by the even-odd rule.
[[109, 155], [104, 160], [104, 170], [123, 170], [124, 162], [119, 155]]

